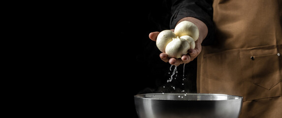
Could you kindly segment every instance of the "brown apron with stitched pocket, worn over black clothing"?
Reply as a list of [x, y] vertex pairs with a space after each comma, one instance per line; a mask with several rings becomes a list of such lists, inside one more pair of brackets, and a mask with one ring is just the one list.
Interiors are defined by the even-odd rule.
[[198, 56], [198, 92], [243, 96], [240, 118], [282, 118], [282, 0], [213, 8], [216, 43]]

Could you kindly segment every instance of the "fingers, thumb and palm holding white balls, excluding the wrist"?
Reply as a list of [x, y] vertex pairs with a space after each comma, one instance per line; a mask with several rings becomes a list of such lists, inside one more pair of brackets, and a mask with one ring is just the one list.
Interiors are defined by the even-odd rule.
[[[174, 31], [174, 29], [171, 29], [172, 31]], [[158, 31], [156, 32], [151, 32], [149, 34], [149, 38], [153, 41], [157, 40], [157, 35], [159, 34]], [[200, 40], [196, 40], [195, 41], [195, 49], [189, 49], [188, 50], [188, 54], [187, 55], [183, 55], [181, 58], [179, 59], [175, 59], [175, 58], [169, 58], [168, 55], [166, 53], [161, 53], [159, 55], [160, 59], [162, 59], [164, 62], [169, 62], [172, 65], [180, 65], [182, 63], [188, 63], [190, 61], [192, 61], [193, 59], [195, 59], [201, 52], [202, 50], [202, 46], [200, 43]]]

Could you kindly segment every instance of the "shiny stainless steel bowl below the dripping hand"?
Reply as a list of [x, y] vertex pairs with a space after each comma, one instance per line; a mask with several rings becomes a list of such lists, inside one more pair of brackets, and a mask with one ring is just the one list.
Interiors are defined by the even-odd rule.
[[151, 93], [134, 96], [139, 118], [238, 118], [243, 97], [226, 94]]

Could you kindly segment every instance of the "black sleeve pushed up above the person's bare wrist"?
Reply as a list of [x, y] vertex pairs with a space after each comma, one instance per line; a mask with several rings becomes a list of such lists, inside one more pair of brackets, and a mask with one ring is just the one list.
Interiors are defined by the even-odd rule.
[[177, 22], [182, 18], [197, 18], [208, 27], [208, 35], [202, 42], [202, 45], [211, 45], [215, 32], [212, 4], [213, 0], [172, 0], [170, 28], [174, 29]]

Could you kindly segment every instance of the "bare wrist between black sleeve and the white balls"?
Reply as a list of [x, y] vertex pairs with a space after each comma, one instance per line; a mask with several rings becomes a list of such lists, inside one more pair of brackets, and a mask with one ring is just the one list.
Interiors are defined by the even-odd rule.
[[200, 41], [200, 43], [203, 42], [203, 40], [206, 38], [207, 34], [208, 34], [208, 27], [206, 26], [206, 24], [196, 18], [193, 17], [185, 17], [181, 20], [178, 21], [177, 24], [179, 24], [182, 21], [189, 21], [192, 22], [193, 24], [195, 24], [197, 26], [197, 28], [199, 29], [199, 38], [198, 40]]

